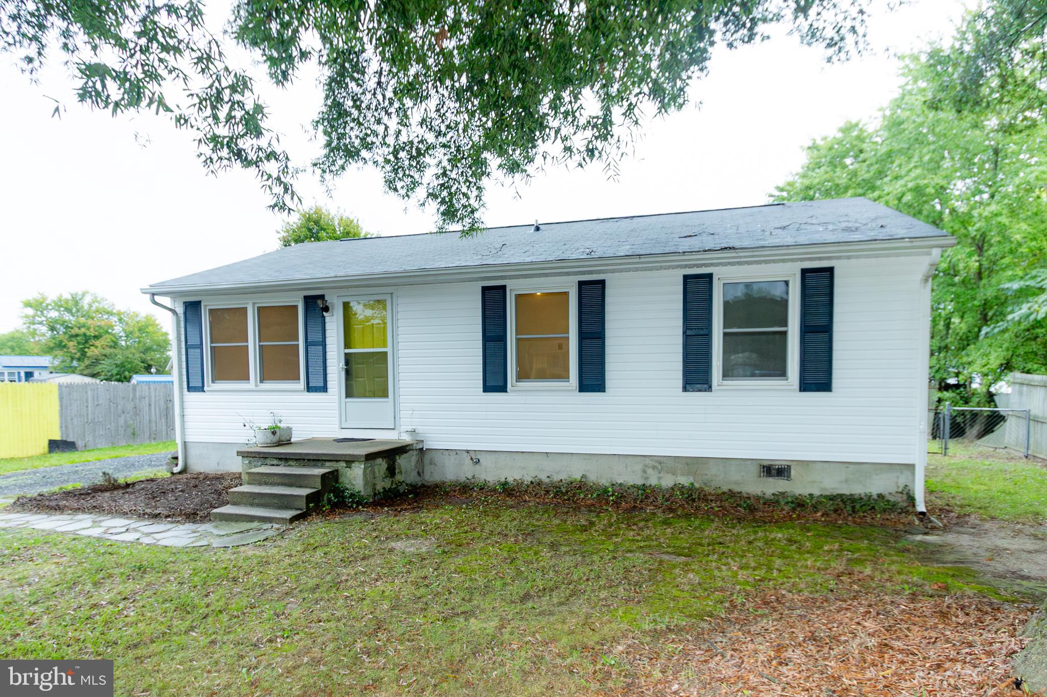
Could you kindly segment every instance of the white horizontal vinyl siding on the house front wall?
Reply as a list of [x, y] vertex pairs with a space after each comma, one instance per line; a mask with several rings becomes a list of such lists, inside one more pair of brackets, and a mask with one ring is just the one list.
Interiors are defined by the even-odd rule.
[[[428, 448], [912, 463], [921, 387], [916, 384], [918, 335], [928, 331], [918, 326], [917, 284], [927, 258], [695, 265], [547, 281], [573, 287], [579, 278], [606, 279], [604, 393], [485, 394], [480, 295], [481, 286], [492, 281], [391, 285], [384, 289], [393, 293], [396, 308], [398, 429], [338, 427], [339, 344], [337, 323], [328, 318], [326, 394], [263, 386], [186, 393], [185, 438], [240, 442], [247, 435], [241, 416], [258, 422], [275, 411], [294, 426], [295, 438], [394, 437], [413, 427]], [[836, 266], [832, 392], [801, 393], [795, 385], [683, 392], [684, 274], [712, 272], [716, 279], [794, 275], [801, 265]], [[522, 287], [516, 281], [511, 285]], [[308, 293], [332, 299], [344, 291]], [[202, 299], [205, 305], [208, 300], [185, 299]]]

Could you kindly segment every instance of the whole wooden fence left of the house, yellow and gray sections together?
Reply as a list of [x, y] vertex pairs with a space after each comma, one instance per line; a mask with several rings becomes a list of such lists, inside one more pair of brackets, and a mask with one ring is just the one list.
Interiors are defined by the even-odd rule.
[[0, 458], [42, 455], [50, 439], [80, 450], [173, 440], [174, 397], [171, 385], [0, 382]]

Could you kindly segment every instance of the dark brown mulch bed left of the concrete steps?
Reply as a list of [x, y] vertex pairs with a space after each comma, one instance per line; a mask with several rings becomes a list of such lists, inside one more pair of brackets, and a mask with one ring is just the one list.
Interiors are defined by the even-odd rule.
[[240, 484], [239, 472], [175, 474], [19, 496], [7, 510], [206, 520], [211, 510], [229, 503], [228, 490]]

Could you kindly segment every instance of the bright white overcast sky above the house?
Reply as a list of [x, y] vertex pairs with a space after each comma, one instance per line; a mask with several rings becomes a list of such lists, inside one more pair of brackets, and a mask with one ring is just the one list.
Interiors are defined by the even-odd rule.
[[[224, 3], [211, 3], [222, 19]], [[871, 119], [897, 92], [896, 52], [948, 37], [962, 5], [915, 0], [875, 13], [874, 52], [826, 65], [822, 51], [777, 32], [771, 41], [714, 52], [697, 103], [651, 121], [621, 176], [599, 167], [550, 171], [517, 192], [494, 184], [491, 226], [759, 205], [803, 162], [812, 138], [848, 119]], [[57, 63], [57, 62], [55, 62]], [[259, 71], [261, 75], [261, 71]], [[306, 125], [319, 106], [314, 79], [263, 91], [272, 125], [299, 162], [316, 152]], [[192, 136], [152, 115], [112, 118], [81, 108], [58, 65], [31, 85], [0, 53], [0, 331], [19, 324], [20, 301], [87, 289], [120, 307], [156, 311], [139, 288], [275, 248], [285, 219], [249, 172], [204, 175]], [[65, 104], [52, 118], [53, 99]], [[307, 204], [358, 217], [382, 235], [425, 232], [430, 212], [384, 194], [377, 170], [343, 177], [331, 198], [315, 178], [298, 181]]]

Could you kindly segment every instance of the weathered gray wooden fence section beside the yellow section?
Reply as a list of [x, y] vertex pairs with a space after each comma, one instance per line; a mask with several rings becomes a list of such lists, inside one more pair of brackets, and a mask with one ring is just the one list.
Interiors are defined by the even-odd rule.
[[62, 440], [74, 441], [81, 450], [172, 440], [174, 400], [171, 385], [60, 385]]

